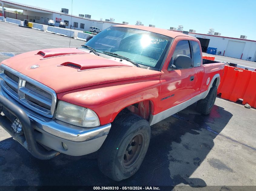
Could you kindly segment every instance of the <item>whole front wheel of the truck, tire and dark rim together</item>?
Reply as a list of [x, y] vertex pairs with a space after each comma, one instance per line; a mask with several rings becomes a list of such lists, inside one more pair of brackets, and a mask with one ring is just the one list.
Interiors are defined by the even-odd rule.
[[115, 181], [131, 177], [138, 171], [149, 141], [148, 121], [132, 113], [118, 116], [99, 150], [101, 172]]

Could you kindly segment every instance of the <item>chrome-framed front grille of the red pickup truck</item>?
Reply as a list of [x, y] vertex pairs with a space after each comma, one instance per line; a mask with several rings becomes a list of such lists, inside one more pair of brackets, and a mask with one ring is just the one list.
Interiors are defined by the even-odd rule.
[[0, 84], [5, 92], [29, 109], [53, 117], [57, 100], [54, 90], [4, 64], [0, 71]]

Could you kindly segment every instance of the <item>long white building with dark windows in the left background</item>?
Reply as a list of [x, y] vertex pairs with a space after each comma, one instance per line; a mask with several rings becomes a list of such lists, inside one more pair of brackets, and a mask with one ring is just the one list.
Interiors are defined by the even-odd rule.
[[67, 28], [71, 27], [72, 29], [77, 30], [89, 30], [89, 27], [93, 26], [98, 27], [100, 30], [104, 30], [108, 27], [121, 24], [110, 22], [113, 21], [113, 19], [111, 19], [110, 21], [98, 21], [74, 15], [71, 16], [71, 14], [62, 13], [61, 11], [52, 11], [45, 8], [34, 7], [31, 5], [25, 5], [8, 0], [0, 0], [0, 6], [2, 6], [2, 15], [5, 17], [12, 16], [11, 18], [13, 18], [15, 17], [15, 15], [13, 16], [11, 13], [4, 11], [4, 8], [19, 9], [23, 10], [23, 15], [27, 15], [26, 19], [30, 20], [31, 22], [39, 24], [48, 24], [49, 20], [53, 20], [55, 21], [56, 27], [59, 26], [59, 22], [64, 22], [66, 23]]

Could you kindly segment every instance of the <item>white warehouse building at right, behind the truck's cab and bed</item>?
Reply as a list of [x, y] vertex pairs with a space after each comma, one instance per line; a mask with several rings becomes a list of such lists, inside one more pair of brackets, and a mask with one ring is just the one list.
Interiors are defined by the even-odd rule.
[[[171, 27], [172, 29], [175, 29]], [[187, 31], [173, 30], [181, 33], [185, 33]], [[238, 58], [243, 60], [250, 60], [256, 62], [256, 40], [248, 40], [242, 38], [233, 38], [233, 37], [223, 37], [213, 34], [201, 34], [195, 33], [194, 30], [190, 30], [193, 32], [187, 32], [188, 35], [192, 37], [196, 37], [202, 46], [202, 51], [206, 52], [208, 47], [217, 48], [218, 52], [221, 56], [228, 56], [232, 58]], [[211, 31], [209, 31], [211, 33]], [[215, 33], [216, 34], [216, 33]]]

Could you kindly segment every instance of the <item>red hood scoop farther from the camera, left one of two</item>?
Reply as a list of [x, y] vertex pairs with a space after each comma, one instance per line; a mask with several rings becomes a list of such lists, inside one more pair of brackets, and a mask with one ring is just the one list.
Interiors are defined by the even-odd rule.
[[[56, 56], [66, 56], [66, 55], [73, 55], [73, 54], [88, 54], [88, 53], [85, 53], [76, 48], [66, 48], [66, 49], [62, 49], [61, 51], [59, 49], [40, 50], [35, 55], [40, 55], [43, 57], [42, 59], [47, 59], [47, 58], [52, 58], [52, 57], [56, 57]], [[42, 59], [40, 59], [40, 60], [42, 60]]]

